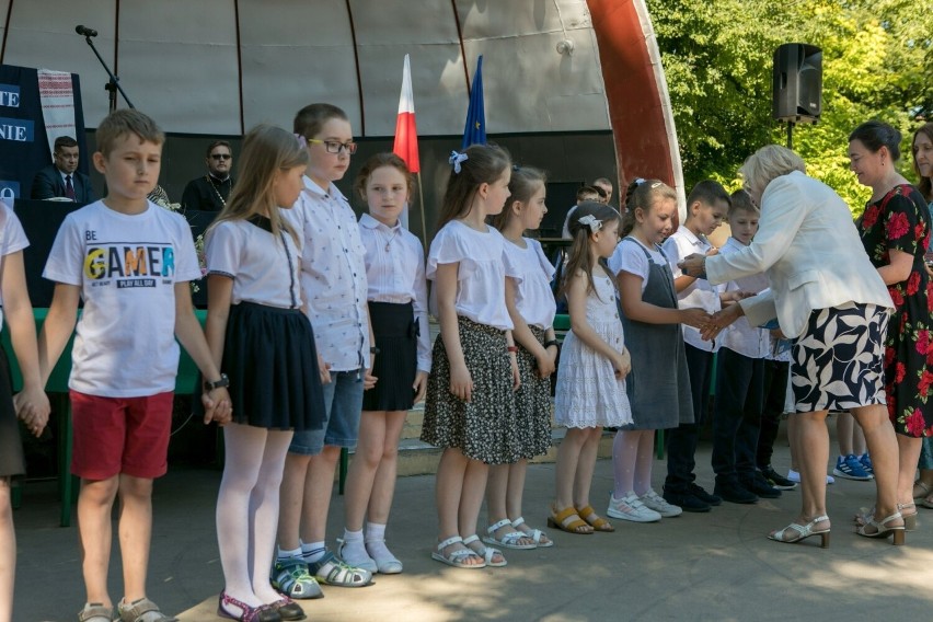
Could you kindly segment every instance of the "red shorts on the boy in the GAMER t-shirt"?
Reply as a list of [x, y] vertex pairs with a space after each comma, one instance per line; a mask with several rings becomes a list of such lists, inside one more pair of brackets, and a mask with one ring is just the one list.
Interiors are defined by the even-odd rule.
[[142, 398], [69, 393], [73, 474], [84, 480], [108, 480], [120, 473], [154, 480], [165, 474], [172, 391]]

